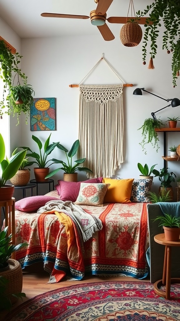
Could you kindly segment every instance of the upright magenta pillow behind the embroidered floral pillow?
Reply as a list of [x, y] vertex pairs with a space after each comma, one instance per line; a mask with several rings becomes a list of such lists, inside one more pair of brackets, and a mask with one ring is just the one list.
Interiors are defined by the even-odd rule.
[[[76, 202], [80, 190], [81, 182], [66, 182], [63, 180], [58, 180], [55, 188], [58, 191], [61, 201], [71, 201]], [[82, 183], [102, 183], [102, 177], [87, 179]]]

